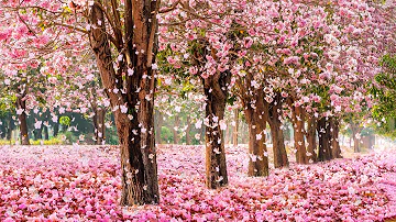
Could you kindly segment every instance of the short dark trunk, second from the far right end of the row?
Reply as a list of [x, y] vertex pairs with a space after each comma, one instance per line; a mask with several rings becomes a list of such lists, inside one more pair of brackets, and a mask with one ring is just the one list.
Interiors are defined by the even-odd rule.
[[319, 154], [318, 154], [318, 160], [324, 162], [332, 159], [332, 153], [330, 149], [330, 123], [328, 121], [328, 118], [321, 118], [318, 121], [317, 125], [318, 136], [319, 136]]

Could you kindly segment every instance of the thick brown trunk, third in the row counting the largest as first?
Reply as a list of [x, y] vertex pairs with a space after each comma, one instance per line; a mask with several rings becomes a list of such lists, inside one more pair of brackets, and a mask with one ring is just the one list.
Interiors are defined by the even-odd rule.
[[[260, 93], [260, 92], [261, 93]], [[265, 145], [266, 116], [264, 113], [263, 91], [256, 91], [255, 104], [244, 102], [244, 113], [249, 125], [249, 176], [268, 176], [268, 154]]]

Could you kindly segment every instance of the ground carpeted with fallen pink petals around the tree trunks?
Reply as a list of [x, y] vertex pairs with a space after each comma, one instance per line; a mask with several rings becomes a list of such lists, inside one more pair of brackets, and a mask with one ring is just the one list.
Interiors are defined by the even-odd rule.
[[396, 217], [396, 151], [245, 175], [228, 147], [230, 185], [204, 186], [204, 148], [158, 148], [161, 203], [121, 208], [116, 147], [1, 146], [0, 221], [384, 221]]

